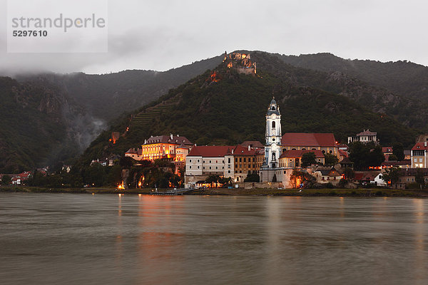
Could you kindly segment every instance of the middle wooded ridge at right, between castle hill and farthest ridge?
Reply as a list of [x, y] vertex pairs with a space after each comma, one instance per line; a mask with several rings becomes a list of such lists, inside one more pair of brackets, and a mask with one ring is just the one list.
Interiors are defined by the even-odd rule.
[[[410, 128], [419, 128], [424, 132], [428, 132], [428, 126], [424, 123], [428, 120], [428, 101], [424, 100], [424, 98], [409, 98], [409, 96], [394, 93], [380, 84], [374, 85], [370, 81], [364, 81], [364, 78], [352, 77], [349, 73], [344, 73], [338, 67], [340, 64], [335, 64], [336, 62], [322, 61], [324, 66], [329, 66], [330, 64], [332, 68], [322, 68], [322, 71], [320, 71], [317, 68], [310, 69], [306, 64], [292, 66], [291, 63], [287, 64], [287, 58], [295, 59], [292, 56], [272, 54], [267, 67], [271, 72], [287, 76], [290, 81], [297, 85], [310, 86], [330, 93], [345, 95], [376, 113], [387, 114]], [[332, 56], [327, 56], [327, 58], [332, 59]], [[333, 58], [337, 59], [335, 56]], [[272, 62], [275, 62], [275, 64], [272, 64]], [[293, 64], [296, 62], [293, 62]], [[318, 61], [315, 62], [319, 63]], [[322, 66], [322, 63], [319, 64]], [[364, 68], [359, 69], [359, 71], [364, 73]], [[381, 71], [379, 73], [382, 74]], [[403, 73], [405, 73], [405, 70], [403, 70]], [[382, 80], [379, 78], [380, 81]]]

